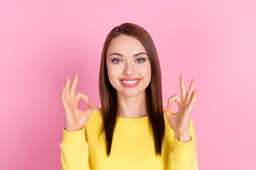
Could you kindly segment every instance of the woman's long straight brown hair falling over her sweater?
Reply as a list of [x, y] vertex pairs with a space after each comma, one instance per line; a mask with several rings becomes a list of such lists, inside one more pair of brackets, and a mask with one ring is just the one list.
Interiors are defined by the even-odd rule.
[[146, 111], [149, 113], [149, 127], [153, 130], [156, 156], [161, 155], [161, 146], [164, 139], [165, 125], [162, 113], [163, 101], [161, 91], [161, 69], [156, 47], [149, 33], [134, 23], [122, 23], [114, 27], [105, 40], [100, 62], [99, 90], [102, 104], [103, 127], [107, 157], [110, 156], [112, 137], [117, 120], [117, 90], [110, 84], [107, 74], [106, 53], [112, 38], [119, 35], [130, 35], [137, 38], [146, 50], [151, 65], [151, 81], [146, 87]]

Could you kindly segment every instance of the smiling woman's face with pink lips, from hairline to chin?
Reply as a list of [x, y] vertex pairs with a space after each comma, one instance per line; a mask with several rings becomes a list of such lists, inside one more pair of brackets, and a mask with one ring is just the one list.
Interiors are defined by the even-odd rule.
[[118, 35], [106, 52], [107, 74], [117, 94], [137, 96], [149, 86], [151, 65], [142, 42]]

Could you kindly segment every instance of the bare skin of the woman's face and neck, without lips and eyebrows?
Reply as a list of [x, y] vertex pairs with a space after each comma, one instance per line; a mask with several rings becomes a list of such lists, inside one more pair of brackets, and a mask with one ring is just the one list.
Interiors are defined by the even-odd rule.
[[[129, 35], [119, 35], [110, 41], [106, 52], [107, 74], [110, 83], [117, 90], [117, 115], [124, 118], [141, 118], [146, 113], [146, 87], [151, 81], [151, 65], [147, 55], [133, 55], [146, 50], [142, 43]], [[124, 55], [111, 55], [119, 53]], [[119, 79], [138, 78], [139, 84], [134, 87], [122, 85]]]

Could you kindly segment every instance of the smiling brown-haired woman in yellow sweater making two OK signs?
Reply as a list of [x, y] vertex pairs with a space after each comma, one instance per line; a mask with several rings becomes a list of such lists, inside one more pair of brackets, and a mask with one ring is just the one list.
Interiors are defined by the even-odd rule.
[[[100, 100], [70, 88], [62, 93], [66, 126], [60, 143], [63, 169], [198, 169], [191, 111], [195, 80], [188, 92], [180, 77], [181, 97], [163, 108], [161, 69], [156, 47], [144, 28], [123, 23], [105, 40], [100, 64]], [[78, 109], [84, 100], [86, 111]], [[179, 111], [169, 107], [176, 101]]]

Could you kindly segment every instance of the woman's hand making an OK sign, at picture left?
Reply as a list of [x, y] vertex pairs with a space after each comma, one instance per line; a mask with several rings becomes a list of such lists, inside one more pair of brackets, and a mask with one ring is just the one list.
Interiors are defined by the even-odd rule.
[[[75, 95], [75, 90], [78, 86], [78, 74], [75, 74], [75, 79], [70, 89], [70, 81], [71, 79], [67, 77], [66, 84], [63, 88], [61, 101], [63, 103], [63, 108], [65, 111], [65, 130], [73, 132], [75, 130], [82, 129], [92, 114], [93, 109], [95, 109], [95, 105], [88, 100], [88, 96], [78, 92]], [[78, 102], [80, 100], [85, 101], [88, 105], [85, 111], [82, 111], [78, 108]]]

